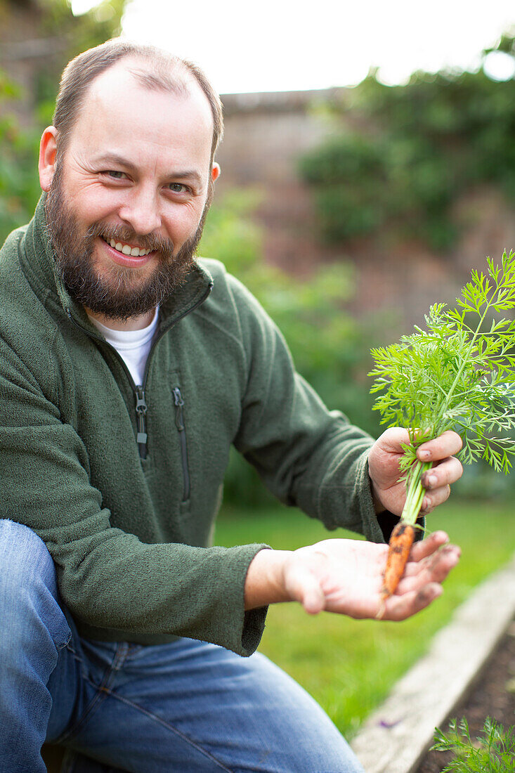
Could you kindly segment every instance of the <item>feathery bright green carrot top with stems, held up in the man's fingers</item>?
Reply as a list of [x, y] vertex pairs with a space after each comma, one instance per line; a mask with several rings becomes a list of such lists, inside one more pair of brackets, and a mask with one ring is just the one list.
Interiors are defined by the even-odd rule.
[[[418, 446], [454, 430], [462, 438], [459, 458], [464, 463], [483, 458], [505, 473], [515, 454], [510, 436], [515, 427], [515, 321], [492, 318], [493, 312], [515, 308], [515, 252], [504, 252], [500, 265], [487, 258], [486, 274], [472, 271], [471, 277], [457, 308], [431, 306], [427, 329], [415, 326], [399, 343], [371, 352], [375, 381], [370, 392], [381, 393], [374, 410], [380, 411], [381, 424], [409, 433], [401, 457], [407, 489], [399, 525], [404, 539], [408, 530], [413, 540], [425, 494], [421, 478], [431, 467], [418, 459]], [[391, 547], [396, 539], [392, 535]], [[394, 584], [385, 581], [384, 598], [393, 591]]]

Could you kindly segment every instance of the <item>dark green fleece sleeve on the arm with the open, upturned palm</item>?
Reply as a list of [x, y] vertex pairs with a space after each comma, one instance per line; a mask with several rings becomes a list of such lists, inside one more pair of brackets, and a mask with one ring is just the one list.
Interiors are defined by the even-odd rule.
[[0, 494], [2, 517], [46, 543], [77, 621], [129, 641], [135, 632], [172, 634], [244, 656], [256, 649], [266, 611], [244, 611], [244, 581], [267, 546], [146, 544], [112, 528], [83, 441], [1, 340]]

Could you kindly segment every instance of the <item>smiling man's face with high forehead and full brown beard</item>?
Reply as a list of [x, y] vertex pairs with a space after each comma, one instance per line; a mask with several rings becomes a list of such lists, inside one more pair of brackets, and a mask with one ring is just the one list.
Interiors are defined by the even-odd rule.
[[118, 319], [145, 315], [184, 280], [212, 179], [213, 123], [200, 87], [192, 82], [186, 96], [148, 90], [126, 67], [91, 84], [46, 201], [70, 293]]

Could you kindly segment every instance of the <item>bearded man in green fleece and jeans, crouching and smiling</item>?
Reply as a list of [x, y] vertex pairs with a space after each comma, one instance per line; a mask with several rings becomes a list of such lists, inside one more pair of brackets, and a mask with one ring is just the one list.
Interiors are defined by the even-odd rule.
[[[188, 63], [120, 41], [82, 54], [43, 132], [43, 198], [2, 249], [2, 771], [43, 773], [45, 740], [83, 773], [361, 770], [252, 653], [271, 603], [380, 611], [407, 434], [374, 443], [326, 410], [257, 301], [194, 260], [221, 132]], [[281, 500], [370, 541], [210, 547], [233, 443]], [[421, 446], [425, 512], [459, 446]], [[384, 618], [441, 593], [445, 540], [416, 544]]]

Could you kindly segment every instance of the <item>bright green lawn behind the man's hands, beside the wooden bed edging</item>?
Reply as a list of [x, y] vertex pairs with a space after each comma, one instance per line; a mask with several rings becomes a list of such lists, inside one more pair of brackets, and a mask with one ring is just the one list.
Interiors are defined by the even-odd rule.
[[[402, 623], [355, 621], [322, 612], [309, 617], [298, 604], [276, 604], [268, 612], [260, 652], [291, 674], [352, 737], [394, 683], [428, 649], [432, 635], [472, 587], [506, 563], [515, 550], [515, 507], [498, 502], [447, 502], [428, 517], [428, 528], [445, 529], [462, 548], [445, 593], [428, 609]], [[288, 550], [328, 536], [319, 522], [295, 509], [223, 509], [217, 544], [265, 542]], [[480, 621], [478, 621], [480, 625]]]

